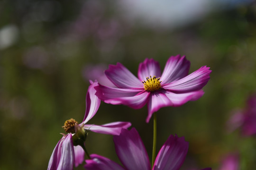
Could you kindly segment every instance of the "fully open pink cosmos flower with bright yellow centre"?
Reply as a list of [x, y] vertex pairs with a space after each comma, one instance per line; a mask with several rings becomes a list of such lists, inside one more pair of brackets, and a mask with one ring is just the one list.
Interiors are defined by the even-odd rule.
[[138, 78], [120, 63], [110, 65], [105, 74], [118, 88], [99, 85], [95, 87], [96, 95], [106, 103], [124, 104], [133, 109], [147, 103], [146, 122], [149, 122], [160, 108], [181, 106], [203, 95], [201, 89], [210, 79], [211, 70], [203, 66], [188, 75], [189, 68], [190, 61], [180, 55], [168, 59], [162, 74], [157, 61], [145, 59], [139, 64]]

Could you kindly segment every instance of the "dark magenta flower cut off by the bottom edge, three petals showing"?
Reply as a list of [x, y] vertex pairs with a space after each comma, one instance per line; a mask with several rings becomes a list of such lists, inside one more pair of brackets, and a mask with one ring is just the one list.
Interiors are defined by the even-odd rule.
[[[151, 170], [145, 146], [135, 128], [122, 129], [114, 136], [116, 153], [123, 167], [108, 158], [91, 154], [86, 160], [86, 170]], [[188, 142], [184, 137], [169, 136], [156, 156], [152, 170], [179, 170], [188, 152]], [[204, 169], [211, 170], [211, 168]]]

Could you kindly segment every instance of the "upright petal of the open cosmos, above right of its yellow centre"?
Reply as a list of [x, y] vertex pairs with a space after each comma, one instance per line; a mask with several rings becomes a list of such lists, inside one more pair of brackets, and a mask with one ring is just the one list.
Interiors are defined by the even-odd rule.
[[161, 76], [162, 84], [168, 84], [188, 75], [190, 61], [185, 56], [171, 56], [166, 64]]

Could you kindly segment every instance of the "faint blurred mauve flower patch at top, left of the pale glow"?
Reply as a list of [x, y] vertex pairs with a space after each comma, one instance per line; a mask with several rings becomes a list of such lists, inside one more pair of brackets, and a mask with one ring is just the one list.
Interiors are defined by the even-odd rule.
[[68, 28], [71, 40], [84, 41], [92, 38], [93, 44], [104, 53], [104, 58], [106, 53], [121, 44], [120, 38], [128, 34], [130, 27], [119, 16], [111, 15], [108, 6], [102, 0], [84, 1], [80, 14]]

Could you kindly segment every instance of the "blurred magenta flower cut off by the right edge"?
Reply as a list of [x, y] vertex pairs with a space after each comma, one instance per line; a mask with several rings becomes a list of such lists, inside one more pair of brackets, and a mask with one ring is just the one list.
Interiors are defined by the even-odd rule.
[[242, 134], [245, 136], [256, 135], [256, 94], [247, 100], [247, 108], [238, 110], [227, 122], [229, 131], [241, 127]]

